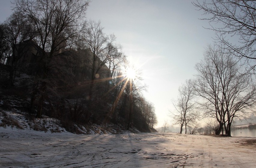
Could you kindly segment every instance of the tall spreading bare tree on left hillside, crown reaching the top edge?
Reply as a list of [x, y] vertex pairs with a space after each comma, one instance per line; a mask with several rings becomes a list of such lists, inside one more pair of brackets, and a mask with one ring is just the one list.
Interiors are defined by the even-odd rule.
[[[40, 98], [37, 110], [37, 117], [41, 117], [43, 101], [47, 97], [45, 95], [46, 79], [52, 66], [55, 66], [52, 60], [59, 55], [67, 43], [72, 41], [72, 38], [80, 35], [83, 28], [82, 21], [89, 2], [82, 0], [16, 0], [14, 4], [15, 9], [34, 25], [38, 34], [34, 40], [44, 51], [41, 58], [43, 80], [39, 81], [41, 84], [38, 90]], [[34, 100], [34, 96], [32, 95], [31, 100]]]

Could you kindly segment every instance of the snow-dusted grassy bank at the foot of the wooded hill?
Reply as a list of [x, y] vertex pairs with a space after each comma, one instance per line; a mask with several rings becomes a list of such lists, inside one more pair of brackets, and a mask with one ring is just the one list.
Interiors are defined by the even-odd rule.
[[[62, 127], [58, 119], [43, 116], [42, 118], [28, 119], [28, 113], [21, 112], [17, 109], [3, 110], [0, 108], [0, 127], [19, 128], [23, 130], [35, 130], [48, 133], [68, 132]], [[74, 124], [74, 123], [72, 123]], [[121, 125], [114, 124], [92, 124], [76, 125], [74, 124], [76, 133], [78, 134], [120, 134], [124, 129]], [[136, 128], [130, 128], [130, 131], [139, 133]]]

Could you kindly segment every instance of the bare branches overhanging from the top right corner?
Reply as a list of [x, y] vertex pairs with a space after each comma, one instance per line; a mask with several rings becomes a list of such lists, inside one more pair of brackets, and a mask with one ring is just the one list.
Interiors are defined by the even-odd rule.
[[[219, 40], [224, 42], [233, 54], [246, 58], [248, 72], [255, 70], [256, 64], [251, 60], [256, 59], [256, 1], [204, 0], [193, 4], [207, 16], [203, 19], [209, 20], [209, 29], [216, 31]], [[228, 42], [225, 36], [238, 36], [239, 45]]]

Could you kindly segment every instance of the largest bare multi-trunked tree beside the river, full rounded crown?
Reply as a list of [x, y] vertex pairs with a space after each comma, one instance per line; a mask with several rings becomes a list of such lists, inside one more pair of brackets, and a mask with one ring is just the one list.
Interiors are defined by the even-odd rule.
[[202, 111], [215, 117], [231, 136], [234, 117], [247, 118], [254, 111], [256, 88], [250, 75], [241, 75], [240, 67], [222, 47], [209, 46], [205, 58], [197, 63], [197, 94]]

